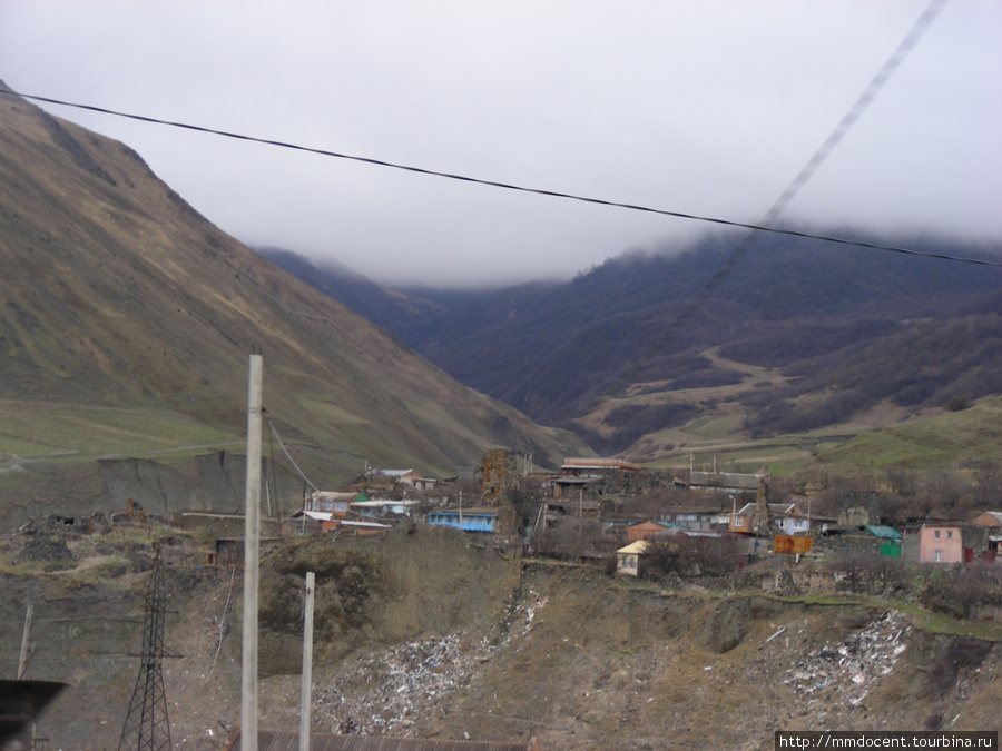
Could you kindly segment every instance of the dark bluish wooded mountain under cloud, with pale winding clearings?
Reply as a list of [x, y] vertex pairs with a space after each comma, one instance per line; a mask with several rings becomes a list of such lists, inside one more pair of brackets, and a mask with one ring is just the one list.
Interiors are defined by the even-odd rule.
[[[704, 291], [739, 241], [626, 254], [567, 284], [403, 289], [422, 307], [392, 307], [384, 323], [463, 383], [607, 452], [725, 398], [747, 417], [738, 428], [765, 435], [837, 424], [884, 399], [917, 408], [1002, 393], [1002, 271], [763, 236]], [[764, 368], [768, 383], [752, 375]], [[696, 402], [680, 394], [697, 391]]]

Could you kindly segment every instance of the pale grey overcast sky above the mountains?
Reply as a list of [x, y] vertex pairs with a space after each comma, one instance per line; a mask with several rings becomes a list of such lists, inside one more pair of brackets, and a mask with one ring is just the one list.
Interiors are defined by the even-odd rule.
[[[926, 0], [0, 0], [23, 93], [758, 221]], [[43, 105], [248, 244], [384, 283], [570, 277], [708, 227]], [[785, 218], [1002, 241], [1002, 3], [952, 0]]]

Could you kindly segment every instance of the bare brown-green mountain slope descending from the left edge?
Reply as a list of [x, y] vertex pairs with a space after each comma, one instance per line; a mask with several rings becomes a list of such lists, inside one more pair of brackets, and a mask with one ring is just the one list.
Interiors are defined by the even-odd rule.
[[31, 471], [0, 488], [37, 487], [45, 462], [17, 458], [97, 458], [88, 431], [99, 456], [146, 455], [167, 424], [179, 451], [230, 448], [255, 350], [269, 419], [326, 485], [363, 458], [449, 474], [495, 445], [551, 464], [583, 451], [263, 260], [127, 147], [0, 97], [0, 454]]

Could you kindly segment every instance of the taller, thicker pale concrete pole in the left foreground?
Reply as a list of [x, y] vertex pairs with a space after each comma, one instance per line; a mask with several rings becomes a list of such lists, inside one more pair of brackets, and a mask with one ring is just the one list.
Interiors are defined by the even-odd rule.
[[247, 492], [244, 520], [244, 661], [240, 749], [257, 751], [257, 591], [261, 560], [261, 391], [263, 363], [250, 355], [247, 391]]

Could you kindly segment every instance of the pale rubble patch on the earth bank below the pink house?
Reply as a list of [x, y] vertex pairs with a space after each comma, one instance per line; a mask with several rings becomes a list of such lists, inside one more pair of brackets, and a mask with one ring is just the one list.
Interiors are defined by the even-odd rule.
[[812, 650], [786, 671], [784, 683], [808, 696], [808, 705], [837, 701], [858, 706], [873, 684], [894, 669], [908, 630], [900, 616], [887, 613], [841, 644]]

